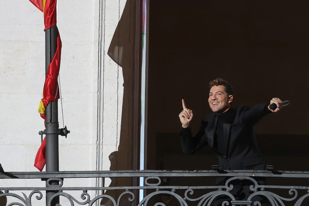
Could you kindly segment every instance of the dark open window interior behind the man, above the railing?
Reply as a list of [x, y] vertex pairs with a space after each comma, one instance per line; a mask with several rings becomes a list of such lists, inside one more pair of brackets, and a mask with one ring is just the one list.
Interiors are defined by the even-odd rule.
[[209, 149], [181, 151], [181, 99], [193, 110], [192, 131], [209, 115], [208, 82], [234, 86], [233, 107], [290, 105], [256, 126], [265, 164], [309, 170], [309, 13], [307, 1], [149, 2], [147, 168], [210, 170]]

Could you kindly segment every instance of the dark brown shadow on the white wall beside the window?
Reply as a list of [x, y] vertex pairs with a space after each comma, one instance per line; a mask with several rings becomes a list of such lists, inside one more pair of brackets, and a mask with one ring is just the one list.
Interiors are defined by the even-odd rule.
[[[109, 155], [110, 170], [133, 170], [135, 5], [134, 0], [127, 0], [108, 49], [108, 55], [122, 67], [124, 79], [120, 141], [118, 151]], [[132, 178], [111, 178], [111, 180], [109, 187], [131, 186], [133, 183]], [[107, 190], [105, 195], [110, 195], [117, 201], [124, 191]], [[114, 205], [108, 198], [103, 198], [101, 204]], [[122, 197], [120, 205], [131, 204], [125, 196]]]

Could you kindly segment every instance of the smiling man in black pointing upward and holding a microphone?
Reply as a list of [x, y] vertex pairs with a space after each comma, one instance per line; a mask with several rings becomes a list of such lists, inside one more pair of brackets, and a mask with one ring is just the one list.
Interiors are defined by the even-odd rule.
[[[208, 103], [213, 111], [201, 121], [200, 129], [192, 135], [190, 121], [193, 111], [188, 109], [182, 99], [183, 110], [179, 114], [182, 125], [180, 142], [184, 153], [195, 153], [202, 147], [210, 146], [217, 154], [220, 170], [264, 170], [264, 160], [256, 144], [254, 125], [260, 119], [272, 112], [277, 112], [283, 106], [279, 98], [273, 98], [269, 103], [257, 104], [251, 109], [241, 105], [231, 107], [233, 102], [233, 88], [229, 82], [217, 78], [209, 83], [210, 91]], [[271, 110], [269, 105], [275, 103], [277, 108]], [[227, 178], [217, 179], [217, 185], [224, 185]], [[256, 178], [259, 184], [265, 184], [265, 179]], [[250, 181], [237, 180], [233, 183], [231, 192], [236, 200], [247, 200], [252, 194]], [[222, 205], [227, 197], [220, 196], [215, 205]], [[254, 201], [260, 201], [263, 206], [267, 201], [256, 196]], [[252, 205], [253, 201], [252, 200]]]

